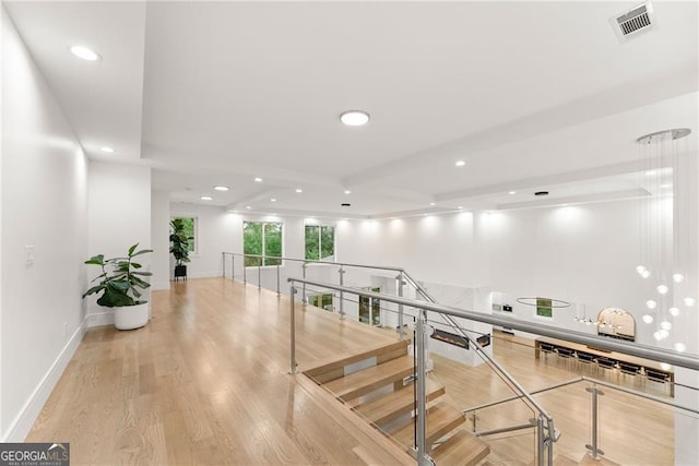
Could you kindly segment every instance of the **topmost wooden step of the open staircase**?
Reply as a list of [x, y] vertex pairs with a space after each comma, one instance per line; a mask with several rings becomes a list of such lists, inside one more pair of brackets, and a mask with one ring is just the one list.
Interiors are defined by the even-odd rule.
[[[318, 361], [316, 365], [305, 368], [303, 372], [318, 383], [327, 383], [344, 375], [345, 366], [354, 365], [365, 359], [377, 359], [377, 365], [407, 355], [410, 340], [401, 339], [391, 344], [381, 344], [362, 353], [334, 356], [330, 360]], [[337, 359], [340, 358], [340, 359]]]

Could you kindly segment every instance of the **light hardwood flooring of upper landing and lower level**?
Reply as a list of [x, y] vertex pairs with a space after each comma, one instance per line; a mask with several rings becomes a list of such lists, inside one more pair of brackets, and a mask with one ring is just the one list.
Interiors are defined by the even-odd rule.
[[[225, 278], [191, 279], [153, 292], [152, 308], [153, 319], [144, 328], [106, 326], [86, 333], [27, 441], [70, 442], [76, 465], [411, 463], [305, 375], [288, 374], [287, 297]], [[296, 332], [299, 370], [395, 339], [394, 332], [300, 306]], [[554, 361], [535, 360], [533, 349], [510, 340], [495, 338], [494, 348], [528, 389], [574, 377]], [[461, 407], [509, 394], [485, 366], [464, 368], [435, 357], [434, 372]], [[556, 451], [582, 458], [589, 442], [584, 387], [540, 396], [564, 432]], [[654, 410], [615, 394], [605, 397], [601, 444], [607, 458], [673, 464], [668, 409]], [[518, 409], [478, 413], [478, 427], [526, 417]], [[533, 452], [532, 434], [487, 440], [494, 451], [489, 464], [531, 462], [521, 447]], [[643, 461], [624, 456], [639, 449], [661, 453], [657, 459], [645, 453]]]

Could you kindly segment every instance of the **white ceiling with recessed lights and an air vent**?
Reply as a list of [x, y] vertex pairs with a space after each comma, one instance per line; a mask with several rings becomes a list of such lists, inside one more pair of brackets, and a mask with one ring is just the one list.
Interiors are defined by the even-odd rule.
[[[642, 134], [690, 128], [697, 153], [695, 1], [655, 1], [656, 26], [624, 44], [608, 20], [636, 2], [3, 4], [86, 153], [152, 166], [173, 202], [383, 217], [599, 201], [638, 192]], [[347, 109], [371, 121], [344, 127]]]

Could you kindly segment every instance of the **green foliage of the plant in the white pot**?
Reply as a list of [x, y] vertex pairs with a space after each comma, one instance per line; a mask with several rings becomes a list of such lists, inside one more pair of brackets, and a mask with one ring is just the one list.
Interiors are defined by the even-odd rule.
[[97, 304], [107, 308], [137, 306], [145, 302], [139, 300], [142, 296], [141, 290], [150, 287], [151, 284], [141, 277], [153, 274], [139, 271], [143, 265], [134, 262], [133, 258], [147, 254], [153, 250], [137, 251], [138, 247], [138, 242], [131, 246], [126, 258], [105, 259], [104, 254], [97, 254], [85, 261], [85, 264], [100, 266], [102, 273], [93, 278], [92, 282], [97, 282], [97, 285], [85, 291], [83, 298], [102, 292]]

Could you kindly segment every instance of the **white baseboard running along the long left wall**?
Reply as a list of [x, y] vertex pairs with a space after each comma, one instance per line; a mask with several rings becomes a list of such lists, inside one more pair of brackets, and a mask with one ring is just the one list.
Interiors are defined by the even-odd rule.
[[42, 378], [40, 382], [32, 392], [17, 416], [10, 423], [10, 428], [5, 434], [0, 439], [0, 442], [24, 442], [27, 433], [34, 426], [36, 418], [38, 417], [42, 408], [46, 404], [46, 401], [50, 396], [54, 387], [58, 383], [61, 374], [66, 370], [68, 362], [70, 362], [75, 349], [83, 339], [85, 334], [85, 324], [87, 319], [78, 326], [73, 335], [70, 337], [63, 349], [58, 355], [48, 372]]

